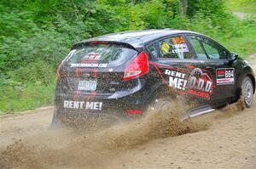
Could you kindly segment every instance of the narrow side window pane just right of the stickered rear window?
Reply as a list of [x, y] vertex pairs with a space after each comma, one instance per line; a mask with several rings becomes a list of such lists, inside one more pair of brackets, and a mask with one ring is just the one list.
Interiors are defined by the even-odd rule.
[[200, 37], [189, 36], [189, 42], [191, 43], [192, 47], [195, 50], [197, 59], [208, 59], [207, 54], [205, 53], [204, 49], [202, 48]]

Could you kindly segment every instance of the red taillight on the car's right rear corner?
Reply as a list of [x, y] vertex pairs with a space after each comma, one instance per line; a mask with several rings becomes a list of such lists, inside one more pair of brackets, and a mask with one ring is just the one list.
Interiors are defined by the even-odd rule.
[[148, 55], [143, 51], [125, 68], [123, 80], [127, 81], [148, 73]]

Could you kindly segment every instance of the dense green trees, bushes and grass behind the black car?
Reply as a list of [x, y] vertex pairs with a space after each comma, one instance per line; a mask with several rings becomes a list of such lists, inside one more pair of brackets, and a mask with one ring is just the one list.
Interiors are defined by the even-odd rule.
[[234, 18], [223, 0], [188, 2], [188, 16], [183, 16], [180, 0], [2, 0], [0, 112], [52, 104], [57, 66], [73, 43], [107, 33], [187, 29], [214, 37], [235, 52], [255, 53], [256, 38], [247, 42], [244, 36], [245, 29], [255, 34], [255, 18]]

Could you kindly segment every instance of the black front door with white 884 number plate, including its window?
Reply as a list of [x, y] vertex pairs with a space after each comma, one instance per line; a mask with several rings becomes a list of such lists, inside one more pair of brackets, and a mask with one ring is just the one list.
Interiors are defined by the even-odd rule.
[[236, 91], [235, 69], [228, 60], [229, 51], [208, 37], [189, 34], [186, 36], [197, 60], [197, 67], [212, 75], [214, 91], [212, 100], [228, 99]]

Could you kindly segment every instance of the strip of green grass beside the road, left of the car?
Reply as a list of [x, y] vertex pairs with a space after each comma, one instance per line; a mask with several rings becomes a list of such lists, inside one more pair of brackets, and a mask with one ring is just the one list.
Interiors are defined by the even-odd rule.
[[33, 110], [54, 103], [55, 82], [48, 86], [27, 84], [26, 86], [0, 87], [0, 115], [22, 110]]

